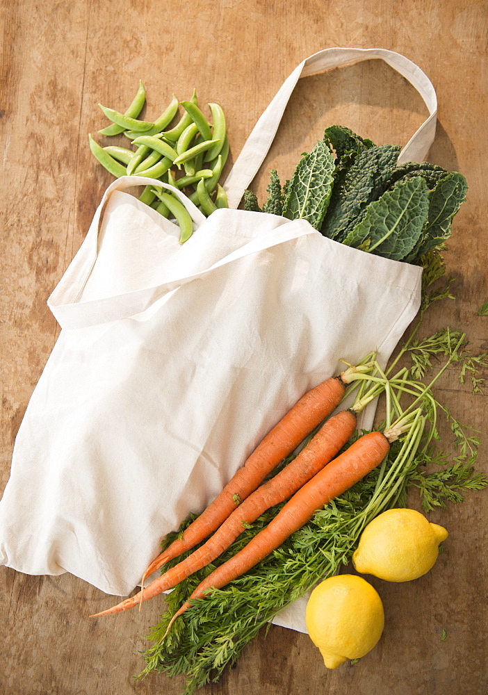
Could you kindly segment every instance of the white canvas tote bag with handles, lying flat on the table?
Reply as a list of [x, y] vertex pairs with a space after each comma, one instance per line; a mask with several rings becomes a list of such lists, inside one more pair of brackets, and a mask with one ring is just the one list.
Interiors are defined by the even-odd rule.
[[[391, 51], [329, 49], [285, 81], [225, 188], [231, 208], [179, 229], [108, 187], [49, 297], [61, 332], [19, 428], [0, 501], [0, 563], [70, 572], [126, 596], [161, 538], [220, 492], [300, 396], [372, 350], [383, 365], [414, 318], [421, 269], [324, 238], [304, 220], [236, 209], [300, 75], [387, 60], [423, 95], [428, 121], [402, 153], [434, 137], [425, 75]], [[167, 188], [171, 188], [166, 186]], [[373, 410], [361, 427], [371, 426]], [[304, 630], [300, 602], [277, 622]]]

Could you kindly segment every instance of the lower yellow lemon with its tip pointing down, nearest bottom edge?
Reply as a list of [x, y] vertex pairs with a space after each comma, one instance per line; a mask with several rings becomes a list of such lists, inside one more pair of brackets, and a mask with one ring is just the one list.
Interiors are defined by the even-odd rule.
[[383, 604], [362, 577], [342, 574], [324, 580], [311, 592], [305, 620], [327, 669], [371, 651], [384, 628]]

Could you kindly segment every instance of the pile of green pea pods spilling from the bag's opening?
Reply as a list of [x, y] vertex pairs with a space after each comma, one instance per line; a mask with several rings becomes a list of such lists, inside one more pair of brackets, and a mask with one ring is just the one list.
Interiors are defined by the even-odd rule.
[[[211, 121], [198, 105], [196, 90], [188, 101], [172, 99], [165, 111], [154, 120], [138, 116], [146, 102], [142, 81], [127, 111], [121, 113], [99, 104], [111, 122], [101, 129], [101, 136], [123, 134], [135, 149], [120, 145], [102, 147], [88, 135], [90, 150], [97, 161], [115, 178], [131, 174], [158, 179], [183, 191], [207, 217], [217, 208], [227, 207], [220, 174], [229, 156], [229, 138], [225, 115], [219, 104], [208, 104]], [[180, 106], [183, 108], [179, 115]], [[179, 120], [176, 124], [173, 122]], [[171, 127], [170, 127], [171, 126]], [[174, 218], [180, 228], [180, 243], [193, 234], [193, 220], [179, 198], [163, 186], [146, 186], [139, 200], [165, 218]]]

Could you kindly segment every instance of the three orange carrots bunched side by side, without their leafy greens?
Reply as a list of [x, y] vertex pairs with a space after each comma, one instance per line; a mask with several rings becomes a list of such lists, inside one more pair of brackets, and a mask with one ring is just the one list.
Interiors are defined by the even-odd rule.
[[[377, 431], [364, 434], [341, 452], [356, 430], [359, 412], [388, 384], [387, 379], [368, 374], [373, 364], [371, 361], [359, 366], [350, 365], [339, 377], [326, 379], [305, 393], [261, 441], [220, 495], [186, 528], [181, 538], [173, 541], [149, 564], [138, 594], [95, 616], [128, 610], [176, 586], [221, 555], [263, 512], [288, 500], [273, 521], [247, 546], [198, 585], [174, 614], [173, 621], [190, 606], [191, 600], [202, 598], [211, 587], [224, 587], [251, 569], [307, 523], [318, 509], [379, 465], [387, 456], [391, 441], [408, 428], [409, 418], [396, 427], [389, 427], [384, 434]], [[359, 389], [352, 407], [329, 418], [343, 400], [347, 384], [360, 379], [370, 381], [373, 386], [366, 393], [364, 388]], [[263, 482], [299, 445], [302, 448], [291, 462]], [[200, 548], [144, 587], [147, 576], [206, 538]]]

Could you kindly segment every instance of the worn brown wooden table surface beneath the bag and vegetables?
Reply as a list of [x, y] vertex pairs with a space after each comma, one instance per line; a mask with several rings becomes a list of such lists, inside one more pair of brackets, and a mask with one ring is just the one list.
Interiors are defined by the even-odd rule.
[[[467, 202], [446, 252], [455, 300], [432, 309], [426, 329], [466, 330], [487, 349], [488, 3], [471, 0], [4, 0], [1, 3], [1, 461], [0, 491], [15, 435], [58, 336], [46, 300], [79, 249], [112, 180], [88, 149], [104, 124], [98, 102], [129, 104], [143, 79], [148, 108], [172, 93], [225, 109], [231, 159], [285, 77], [332, 46], [398, 51], [428, 74], [439, 122], [429, 161], [462, 172]], [[413, 88], [379, 60], [302, 79], [266, 162], [289, 177], [301, 152], [341, 123], [377, 144], [405, 144], [426, 116]], [[455, 377], [439, 395], [481, 432], [488, 473], [487, 399]], [[415, 500], [412, 504], [415, 504]], [[204, 694], [478, 695], [487, 692], [488, 491], [430, 514], [450, 531], [434, 570], [381, 585], [386, 627], [354, 666], [327, 671], [307, 635], [278, 626], [249, 644]], [[33, 530], [34, 531], [34, 530]], [[101, 592], [70, 575], [0, 568], [1, 695], [177, 694], [181, 678], [132, 676], [158, 605], [90, 621]], [[441, 639], [443, 630], [446, 639]]]

